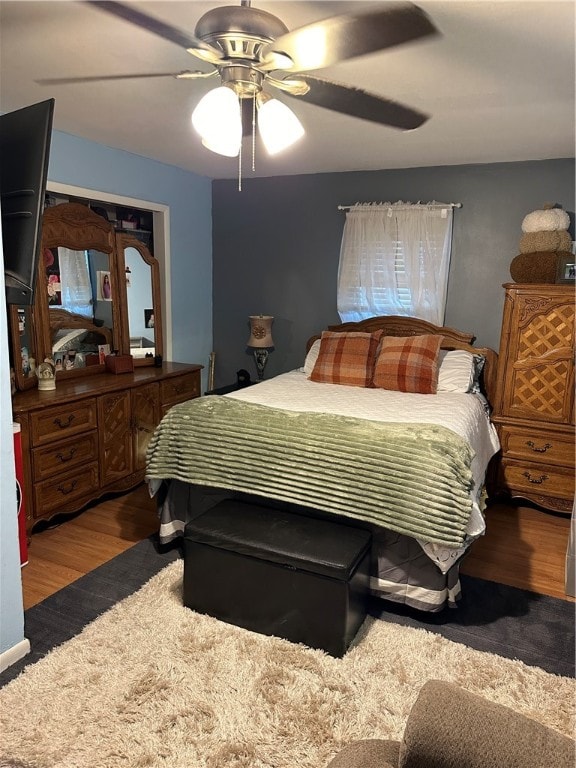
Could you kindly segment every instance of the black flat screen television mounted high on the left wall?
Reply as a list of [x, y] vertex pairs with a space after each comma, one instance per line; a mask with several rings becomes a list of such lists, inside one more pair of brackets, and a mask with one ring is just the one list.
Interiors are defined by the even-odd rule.
[[0, 205], [6, 303], [34, 298], [54, 99], [0, 115]]

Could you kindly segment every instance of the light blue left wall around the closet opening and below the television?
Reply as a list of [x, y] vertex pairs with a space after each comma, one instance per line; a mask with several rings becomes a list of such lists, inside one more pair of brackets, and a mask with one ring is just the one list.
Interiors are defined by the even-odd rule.
[[[172, 359], [204, 365], [206, 381], [212, 350], [211, 180], [58, 131], [52, 136], [48, 178], [169, 206]], [[2, 317], [5, 316], [2, 311]], [[11, 419], [4, 418], [4, 414], [10, 413], [5, 325], [0, 326], [0, 351], [0, 653], [4, 653], [23, 640], [14, 477], [5, 477], [4, 471], [12, 464]]]

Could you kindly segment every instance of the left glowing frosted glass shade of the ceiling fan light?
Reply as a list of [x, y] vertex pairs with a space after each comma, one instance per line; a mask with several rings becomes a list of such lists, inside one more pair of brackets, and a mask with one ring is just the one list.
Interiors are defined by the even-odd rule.
[[203, 96], [192, 113], [194, 130], [212, 152], [236, 157], [242, 143], [240, 102], [231, 88], [214, 88]]

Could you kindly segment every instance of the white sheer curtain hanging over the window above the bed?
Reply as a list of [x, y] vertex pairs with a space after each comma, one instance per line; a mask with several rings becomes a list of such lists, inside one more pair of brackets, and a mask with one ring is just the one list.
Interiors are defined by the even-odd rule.
[[442, 203], [350, 208], [338, 269], [342, 322], [407, 315], [443, 325], [452, 214]]

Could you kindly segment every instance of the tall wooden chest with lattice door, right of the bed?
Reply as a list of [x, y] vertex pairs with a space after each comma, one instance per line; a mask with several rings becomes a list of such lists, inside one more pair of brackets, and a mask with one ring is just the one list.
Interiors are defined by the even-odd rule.
[[574, 499], [574, 286], [508, 283], [493, 421], [496, 495], [570, 512]]

